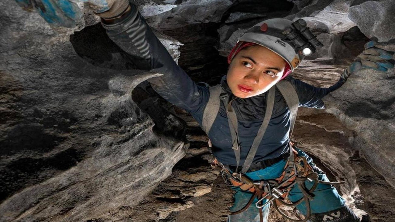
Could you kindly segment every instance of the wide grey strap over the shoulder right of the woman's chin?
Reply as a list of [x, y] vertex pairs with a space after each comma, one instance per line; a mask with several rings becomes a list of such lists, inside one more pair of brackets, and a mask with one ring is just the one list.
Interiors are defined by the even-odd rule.
[[295, 88], [293, 88], [291, 82], [288, 80], [281, 80], [276, 84], [276, 87], [278, 88], [278, 90], [280, 90], [280, 93], [284, 97], [288, 105], [288, 108], [290, 109], [290, 122], [291, 122], [290, 138], [291, 138], [293, 127], [295, 125], [297, 110], [299, 108], [299, 97], [296, 93]]

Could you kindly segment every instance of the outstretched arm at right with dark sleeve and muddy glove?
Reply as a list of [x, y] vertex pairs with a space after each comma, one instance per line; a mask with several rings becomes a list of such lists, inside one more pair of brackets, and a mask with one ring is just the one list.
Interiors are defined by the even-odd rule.
[[375, 42], [369, 41], [365, 44], [365, 50], [357, 57], [355, 62], [351, 63], [344, 69], [339, 81], [329, 88], [315, 87], [301, 80], [292, 77], [286, 78], [295, 87], [299, 97], [299, 106], [310, 108], [324, 108], [324, 102], [321, 100], [328, 93], [337, 90], [342, 86], [347, 78], [354, 72], [361, 69], [373, 69], [376, 71], [387, 71], [394, 67], [394, 52], [374, 47]]

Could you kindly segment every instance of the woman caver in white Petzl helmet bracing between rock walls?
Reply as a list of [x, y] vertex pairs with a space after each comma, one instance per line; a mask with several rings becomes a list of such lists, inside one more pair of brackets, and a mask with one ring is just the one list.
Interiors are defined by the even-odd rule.
[[[154, 90], [170, 103], [184, 108], [207, 130], [203, 123], [207, 119], [203, 120], [203, 114], [213, 91], [207, 85], [195, 84], [173, 61], [136, 6], [128, 0], [73, 0], [68, 4], [65, 4], [68, 1], [59, 4], [59, 1], [47, 0], [39, 7], [38, 1], [17, 2], [24, 7], [35, 6], [47, 22], [63, 26], [70, 26], [73, 20], [81, 16], [78, 7], [71, 2], [89, 2], [94, 12], [102, 18], [108, 36], [135, 58], [134, 62], [140, 69], [163, 74], [149, 80]], [[45, 7], [55, 10], [44, 10]], [[354, 62], [345, 69], [335, 85], [317, 88], [296, 80], [289, 74], [299, 65], [303, 55], [301, 48], [295, 42], [287, 41], [284, 35], [284, 30], [291, 25], [292, 22], [286, 19], [269, 19], [255, 25], [239, 38], [228, 57], [228, 73], [221, 80], [220, 99], [217, 98], [221, 101], [219, 110], [214, 113], [214, 122], [207, 132], [213, 146], [213, 155], [228, 173], [228, 178], [232, 179], [232, 173], [236, 177], [242, 175], [257, 186], [261, 185], [262, 189], [263, 182], [260, 181], [279, 178], [286, 172], [289, 159], [301, 157], [306, 157], [310, 166], [308, 169], [318, 175], [316, 179], [328, 181], [325, 173], [312, 163], [311, 158], [300, 149], [290, 146], [290, 104], [278, 90], [278, 82], [290, 83], [291, 91], [297, 93], [298, 106], [324, 108], [322, 97], [344, 84], [350, 73], [361, 68], [386, 71], [393, 67], [393, 52], [378, 49], [373, 42], [369, 42], [365, 45], [363, 54], [358, 56], [359, 62]], [[273, 103], [272, 108], [267, 108], [269, 101]], [[230, 114], [235, 114], [235, 119], [231, 119]], [[267, 127], [263, 131], [263, 138], [256, 139], [264, 125], [265, 114], [270, 114], [266, 116]], [[232, 121], [237, 124], [232, 124]], [[254, 140], [257, 140], [255, 145]], [[250, 152], [253, 146], [256, 151]], [[249, 153], [253, 153], [250, 157], [251, 164], [245, 164]], [[309, 181], [302, 183], [307, 190], [314, 184]], [[267, 221], [269, 204], [258, 208], [258, 198], [251, 190], [242, 186], [234, 186], [232, 189], [235, 190], [235, 203], [230, 211], [237, 214], [229, 215], [229, 222]], [[310, 222], [361, 221], [330, 184], [318, 183], [310, 196], [311, 200], [296, 206], [299, 214], [309, 216]], [[290, 201], [297, 202], [303, 197], [303, 190], [298, 184], [290, 188]], [[266, 199], [258, 206], [265, 202]], [[363, 217], [362, 221], [368, 221], [368, 217]]]

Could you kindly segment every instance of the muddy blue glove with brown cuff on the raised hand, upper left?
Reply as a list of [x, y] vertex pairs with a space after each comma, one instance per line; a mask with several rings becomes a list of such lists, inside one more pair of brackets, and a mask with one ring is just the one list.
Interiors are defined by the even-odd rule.
[[26, 11], [36, 10], [53, 26], [73, 28], [83, 13], [76, 3], [87, 2], [94, 13], [102, 18], [122, 14], [129, 6], [128, 0], [15, 0]]

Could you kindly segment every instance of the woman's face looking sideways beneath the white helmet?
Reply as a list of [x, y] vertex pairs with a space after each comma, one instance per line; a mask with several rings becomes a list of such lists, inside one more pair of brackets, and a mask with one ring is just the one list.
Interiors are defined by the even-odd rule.
[[282, 77], [286, 62], [260, 45], [242, 49], [229, 65], [226, 81], [233, 95], [248, 98], [269, 90]]

